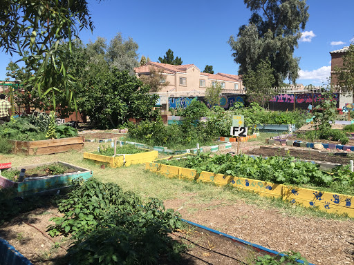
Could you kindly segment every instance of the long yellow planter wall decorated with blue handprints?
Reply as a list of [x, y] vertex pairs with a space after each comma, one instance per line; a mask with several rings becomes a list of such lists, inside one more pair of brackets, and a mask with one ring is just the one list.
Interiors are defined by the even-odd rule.
[[308, 188], [298, 188], [295, 186], [274, 184], [271, 182], [214, 174], [205, 171], [197, 174], [194, 169], [167, 166], [154, 162], [146, 163], [145, 168], [152, 172], [166, 175], [167, 177], [209, 182], [219, 186], [230, 184], [235, 188], [258, 193], [264, 197], [282, 198], [291, 204], [301, 204], [304, 207], [318, 208], [327, 213], [346, 214], [349, 217], [354, 217], [354, 197], [349, 195], [328, 193]]

